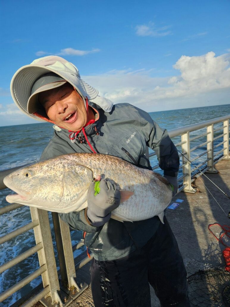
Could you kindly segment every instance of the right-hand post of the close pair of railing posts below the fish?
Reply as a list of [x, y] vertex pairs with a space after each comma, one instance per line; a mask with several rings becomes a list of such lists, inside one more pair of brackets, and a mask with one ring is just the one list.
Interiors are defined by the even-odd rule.
[[60, 219], [57, 212], [52, 212], [52, 217], [63, 285], [62, 290], [75, 299], [88, 288], [88, 285], [81, 283], [83, 286], [79, 287], [75, 281], [76, 270], [69, 226]]

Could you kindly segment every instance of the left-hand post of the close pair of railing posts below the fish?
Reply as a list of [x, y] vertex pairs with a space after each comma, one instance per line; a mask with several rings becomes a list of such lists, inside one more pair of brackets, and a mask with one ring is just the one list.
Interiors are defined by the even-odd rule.
[[42, 209], [30, 207], [30, 213], [32, 221], [39, 220], [39, 225], [34, 227], [33, 230], [36, 244], [40, 242], [43, 244], [43, 248], [37, 253], [40, 266], [46, 264], [47, 267], [47, 270], [42, 274], [42, 282], [44, 288], [46, 286], [50, 287], [50, 292], [48, 295], [46, 295], [46, 297], [51, 297], [52, 304], [59, 303], [60, 306], [63, 306], [63, 303], [57, 292], [60, 290], [60, 287], [54, 257], [48, 212]]

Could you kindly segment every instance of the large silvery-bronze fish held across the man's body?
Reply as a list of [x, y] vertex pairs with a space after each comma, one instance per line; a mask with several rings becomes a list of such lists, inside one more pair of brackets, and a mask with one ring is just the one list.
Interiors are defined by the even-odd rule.
[[97, 175], [129, 191], [121, 192], [122, 197], [132, 195], [113, 210], [112, 218], [137, 221], [159, 216], [163, 222], [163, 210], [172, 198], [168, 181], [105, 154], [71, 153], [18, 169], [4, 178], [4, 184], [18, 193], [6, 200], [54, 212], [80, 211], [87, 207], [88, 188]]

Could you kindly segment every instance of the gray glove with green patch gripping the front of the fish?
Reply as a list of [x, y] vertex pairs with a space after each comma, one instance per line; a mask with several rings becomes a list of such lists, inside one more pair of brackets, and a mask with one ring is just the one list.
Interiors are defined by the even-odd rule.
[[93, 181], [90, 184], [86, 214], [92, 226], [102, 226], [111, 216], [111, 211], [120, 204], [121, 194], [109, 181]]

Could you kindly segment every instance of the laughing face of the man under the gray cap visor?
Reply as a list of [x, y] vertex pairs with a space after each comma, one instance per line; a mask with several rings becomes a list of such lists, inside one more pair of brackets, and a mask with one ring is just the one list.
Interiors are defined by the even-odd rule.
[[87, 122], [87, 112], [82, 98], [71, 84], [41, 92], [38, 96], [46, 114], [57, 126], [78, 131]]

